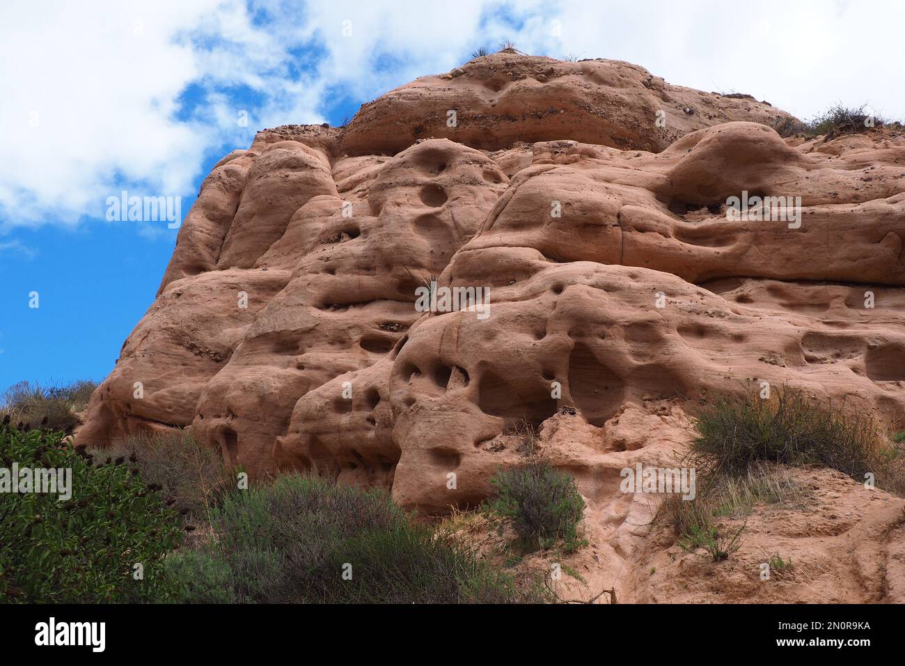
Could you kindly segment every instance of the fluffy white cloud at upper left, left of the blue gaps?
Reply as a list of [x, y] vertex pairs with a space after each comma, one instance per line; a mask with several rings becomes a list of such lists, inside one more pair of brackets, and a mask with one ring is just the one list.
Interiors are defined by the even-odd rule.
[[[7, 227], [102, 217], [104, 200], [123, 183], [155, 195], [192, 191], [204, 150], [218, 145], [223, 128], [177, 121], [180, 94], [205, 78], [265, 85], [253, 72], [281, 53], [236, 2], [24, 0], [6, 4], [4, 16], [0, 220]], [[190, 31], [223, 36], [205, 50]]]

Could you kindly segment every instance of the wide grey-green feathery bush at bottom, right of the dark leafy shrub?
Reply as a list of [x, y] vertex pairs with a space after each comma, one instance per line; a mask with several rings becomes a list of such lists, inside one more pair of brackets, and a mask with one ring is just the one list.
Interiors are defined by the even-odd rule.
[[[216, 539], [167, 558], [194, 603], [545, 601], [452, 536], [412, 525], [382, 491], [299, 475], [224, 498]], [[345, 574], [345, 575], [344, 575]]]

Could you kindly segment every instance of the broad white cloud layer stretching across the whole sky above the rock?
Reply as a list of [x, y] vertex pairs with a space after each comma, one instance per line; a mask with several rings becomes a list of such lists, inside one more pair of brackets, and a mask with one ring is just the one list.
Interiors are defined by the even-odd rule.
[[[322, 121], [337, 91], [369, 100], [502, 39], [527, 53], [628, 60], [805, 118], [835, 101], [905, 117], [896, 2], [14, 0], [4, 18], [0, 231], [102, 217], [120, 187], [186, 196], [205, 150]], [[205, 101], [177, 120], [190, 84]], [[237, 86], [260, 101], [248, 129], [236, 123]]]

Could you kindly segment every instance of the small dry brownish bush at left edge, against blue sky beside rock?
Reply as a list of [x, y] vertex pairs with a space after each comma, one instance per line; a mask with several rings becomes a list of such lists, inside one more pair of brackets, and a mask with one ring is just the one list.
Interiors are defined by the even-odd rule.
[[45, 387], [37, 382], [20, 381], [0, 395], [0, 418], [9, 416], [14, 425], [39, 425], [46, 430], [71, 431], [80, 423], [77, 412], [88, 407], [94, 381]]

